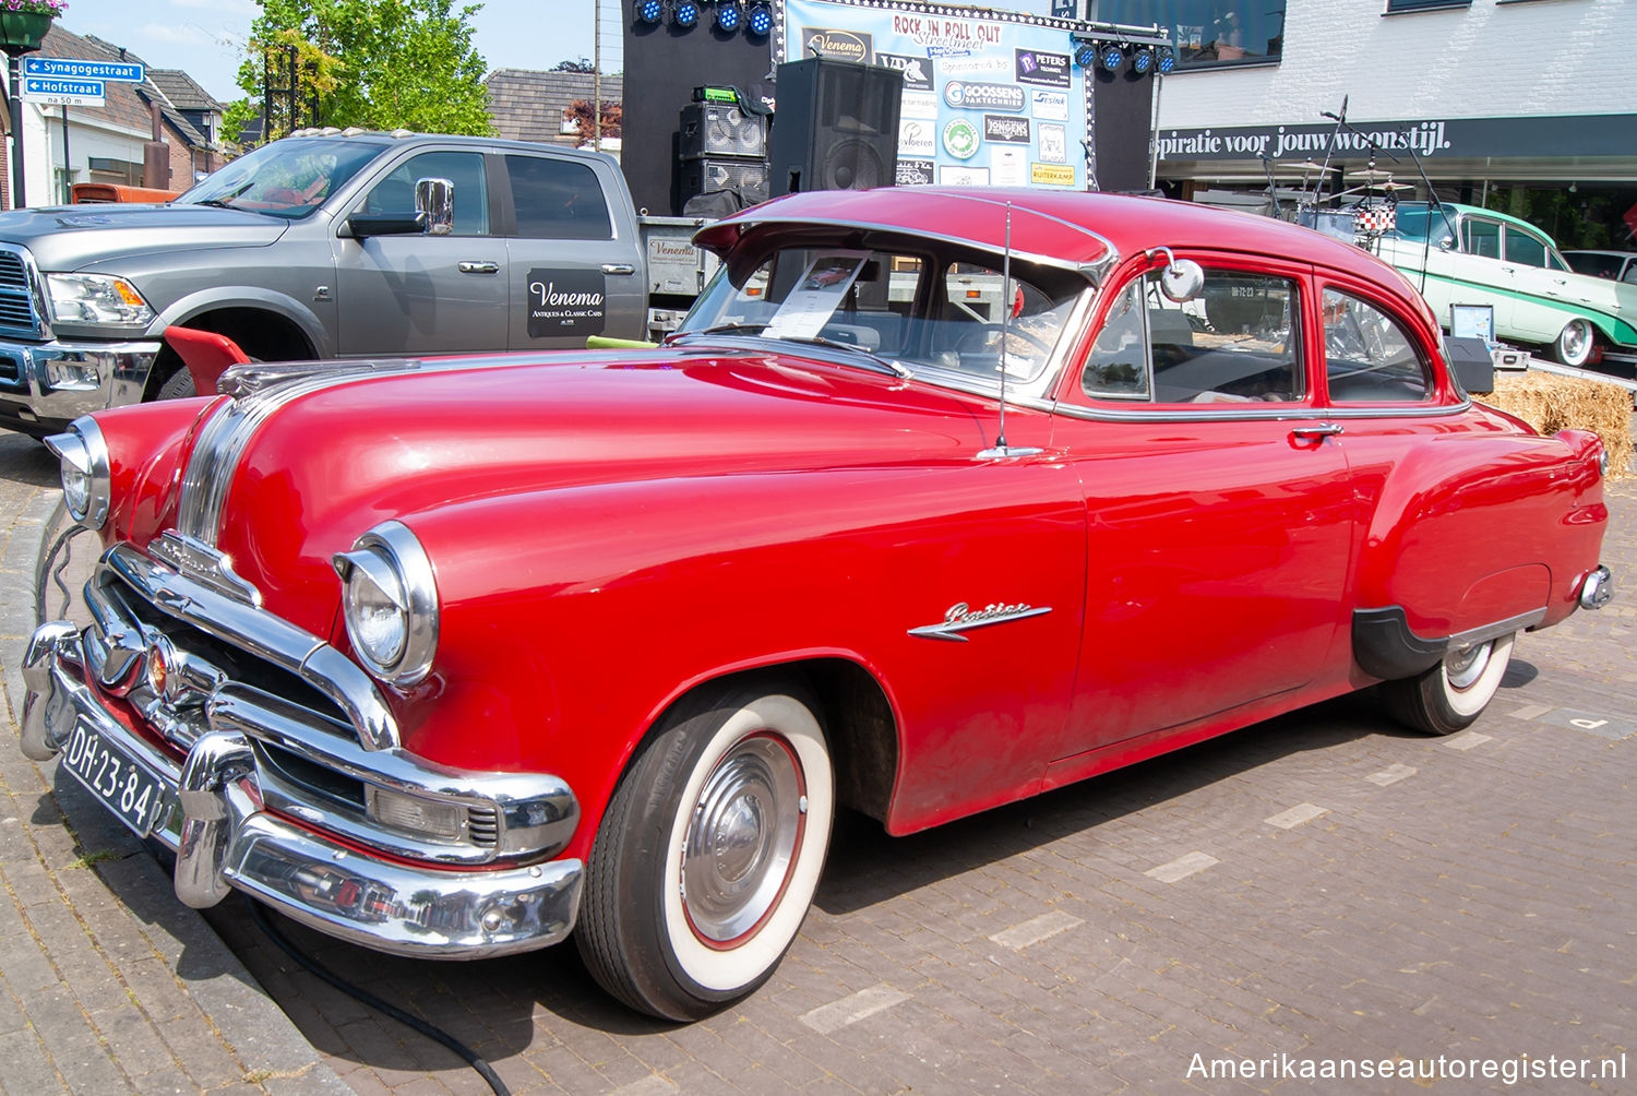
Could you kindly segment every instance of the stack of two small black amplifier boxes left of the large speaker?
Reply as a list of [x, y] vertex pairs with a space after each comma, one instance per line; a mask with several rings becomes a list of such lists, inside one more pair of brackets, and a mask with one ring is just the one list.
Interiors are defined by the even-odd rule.
[[722, 216], [768, 200], [768, 118], [738, 103], [683, 106], [678, 185], [688, 216]]

